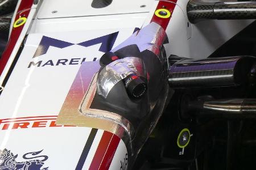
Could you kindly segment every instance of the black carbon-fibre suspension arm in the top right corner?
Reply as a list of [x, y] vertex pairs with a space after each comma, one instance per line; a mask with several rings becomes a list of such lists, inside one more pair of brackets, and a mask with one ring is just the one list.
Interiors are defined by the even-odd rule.
[[191, 0], [187, 5], [191, 23], [208, 19], [256, 19], [256, 2], [201, 2]]

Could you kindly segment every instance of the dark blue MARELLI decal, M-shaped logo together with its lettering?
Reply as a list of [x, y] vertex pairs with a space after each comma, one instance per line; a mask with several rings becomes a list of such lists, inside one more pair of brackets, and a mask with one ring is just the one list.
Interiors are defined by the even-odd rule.
[[[114, 32], [114, 33], [110, 33], [109, 35], [97, 37], [96, 39], [80, 42], [79, 44], [73, 44], [71, 42], [57, 40], [51, 37], [43, 36], [32, 58], [34, 59], [46, 54], [50, 46], [63, 49], [72, 45], [80, 45], [87, 48], [89, 46], [101, 44], [100, 49], [98, 49], [98, 51], [106, 53], [112, 49], [114, 42], [117, 39], [117, 36], [118, 36], [118, 32]], [[92, 57], [92, 56], [89, 56], [89, 57]], [[97, 58], [94, 57], [93, 61], [96, 61], [96, 60]], [[49, 59], [47, 61], [37, 60], [37, 61], [31, 61], [30, 63], [28, 63], [28, 68], [44, 67], [44, 66], [61, 66], [61, 65], [81, 65], [83, 62], [87, 62], [86, 57], [71, 58], [71, 59], [70, 58], [69, 59], [67, 58]]]

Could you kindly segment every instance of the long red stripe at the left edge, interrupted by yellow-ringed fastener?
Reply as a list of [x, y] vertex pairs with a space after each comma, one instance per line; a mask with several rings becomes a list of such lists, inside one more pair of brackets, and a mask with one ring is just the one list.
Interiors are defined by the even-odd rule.
[[[21, 17], [27, 18], [28, 14], [30, 14], [30, 8], [32, 4], [33, 4], [33, 0], [21, 1], [17, 14], [15, 16], [15, 21]], [[19, 39], [19, 35], [22, 32], [23, 27], [24, 27], [24, 24], [21, 25], [20, 27], [13, 28], [11, 31], [10, 39], [0, 59], [0, 75], [2, 75], [3, 69], [5, 69], [5, 66], [11, 56], [11, 53], [13, 52], [14, 46], [16, 44], [16, 41], [18, 41]]]

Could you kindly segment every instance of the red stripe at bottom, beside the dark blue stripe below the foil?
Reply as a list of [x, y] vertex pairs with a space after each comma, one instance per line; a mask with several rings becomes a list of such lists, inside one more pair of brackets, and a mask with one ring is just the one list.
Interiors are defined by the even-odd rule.
[[89, 170], [109, 169], [119, 141], [117, 135], [104, 131]]

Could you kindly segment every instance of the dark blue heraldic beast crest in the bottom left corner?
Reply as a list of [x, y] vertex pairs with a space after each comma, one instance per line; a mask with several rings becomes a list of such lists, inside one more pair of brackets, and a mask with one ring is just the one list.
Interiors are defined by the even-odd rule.
[[22, 156], [23, 162], [17, 162], [18, 155], [7, 149], [0, 150], [0, 170], [48, 170], [48, 167], [42, 168], [48, 156], [38, 156], [42, 151], [28, 152]]

